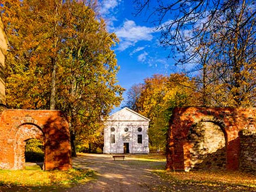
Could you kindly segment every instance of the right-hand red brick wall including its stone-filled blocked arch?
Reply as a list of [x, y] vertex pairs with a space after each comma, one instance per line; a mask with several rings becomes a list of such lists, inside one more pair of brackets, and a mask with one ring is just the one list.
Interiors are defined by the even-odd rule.
[[[255, 117], [256, 108], [174, 108], [168, 130], [166, 169], [191, 170], [205, 164], [205, 168], [225, 166], [228, 170], [238, 170], [241, 152], [238, 132], [255, 130]], [[199, 128], [202, 133], [198, 133], [193, 127], [204, 128]], [[205, 134], [206, 130], [209, 133]], [[213, 161], [216, 164], [210, 164]]]

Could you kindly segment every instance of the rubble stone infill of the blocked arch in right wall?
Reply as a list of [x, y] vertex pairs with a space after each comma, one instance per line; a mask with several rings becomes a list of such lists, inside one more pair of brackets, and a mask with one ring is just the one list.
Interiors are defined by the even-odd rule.
[[192, 170], [226, 168], [226, 132], [223, 123], [194, 123], [189, 129], [187, 141], [191, 146], [187, 164]]

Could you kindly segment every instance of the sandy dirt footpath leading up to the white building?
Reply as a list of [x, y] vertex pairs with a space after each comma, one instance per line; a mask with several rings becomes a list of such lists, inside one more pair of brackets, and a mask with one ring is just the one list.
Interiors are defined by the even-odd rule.
[[145, 162], [127, 157], [114, 161], [110, 155], [86, 154], [74, 158], [73, 166], [95, 170], [97, 180], [67, 191], [150, 191], [162, 184], [150, 170], [164, 166], [164, 162]]

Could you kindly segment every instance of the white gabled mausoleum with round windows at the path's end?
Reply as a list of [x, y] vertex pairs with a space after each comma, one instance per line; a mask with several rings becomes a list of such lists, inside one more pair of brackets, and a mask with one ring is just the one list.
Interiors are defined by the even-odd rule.
[[110, 115], [104, 128], [105, 154], [148, 154], [150, 119], [129, 108]]

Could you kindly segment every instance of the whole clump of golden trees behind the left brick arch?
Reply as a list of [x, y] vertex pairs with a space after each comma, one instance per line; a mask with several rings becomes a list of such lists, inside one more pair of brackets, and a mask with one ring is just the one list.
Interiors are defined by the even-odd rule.
[[63, 110], [75, 155], [75, 141], [92, 138], [121, 102], [111, 50], [117, 38], [88, 6], [91, 1], [1, 2], [9, 39], [7, 103]]

